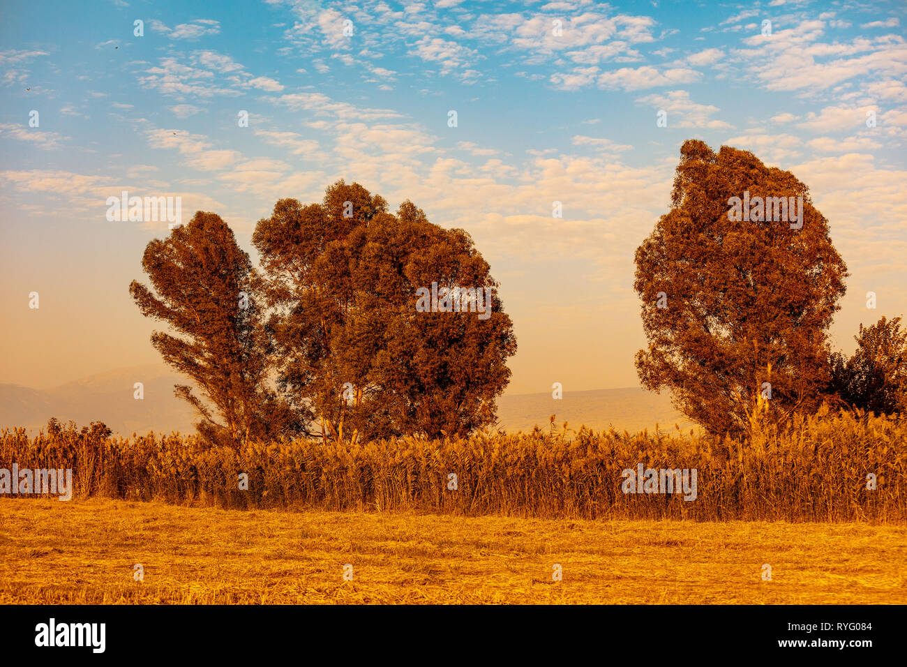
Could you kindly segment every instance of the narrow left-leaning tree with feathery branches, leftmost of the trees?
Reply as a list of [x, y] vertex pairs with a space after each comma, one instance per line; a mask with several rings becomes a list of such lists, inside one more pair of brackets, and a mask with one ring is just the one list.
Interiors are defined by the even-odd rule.
[[304, 419], [268, 387], [271, 343], [253, 295], [254, 270], [233, 232], [214, 213], [198, 211], [165, 240], [151, 240], [142, 269], [153, 291], [133, 280], [141, 314], [170, 325], [151, 344], [191, 378], [176, 395], [199, 414], [197, 427], [212, 442], [239, 446], [250, 437], [293, 436]]

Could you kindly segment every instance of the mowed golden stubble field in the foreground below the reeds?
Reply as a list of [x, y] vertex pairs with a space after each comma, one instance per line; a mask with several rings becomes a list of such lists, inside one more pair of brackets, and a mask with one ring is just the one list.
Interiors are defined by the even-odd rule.
[[0, 499], [0, 603], [907, 603], [905, 565], [904, 525]]

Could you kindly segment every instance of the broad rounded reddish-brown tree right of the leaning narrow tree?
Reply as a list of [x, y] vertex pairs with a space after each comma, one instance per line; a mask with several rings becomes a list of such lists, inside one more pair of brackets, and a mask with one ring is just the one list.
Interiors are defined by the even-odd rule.
[[433, 283], [497, 287], [465, 231], [432, 224], [410, 201], [391, 214], [382, 197], [338, 181], [321, 203], [278, 201], [252, 242], [281, 387], [314, 411], [325, 440], [464, 434], [493, 421], [516, 350], [500, 299], [487, 319], [416, 309], [417, 290]]

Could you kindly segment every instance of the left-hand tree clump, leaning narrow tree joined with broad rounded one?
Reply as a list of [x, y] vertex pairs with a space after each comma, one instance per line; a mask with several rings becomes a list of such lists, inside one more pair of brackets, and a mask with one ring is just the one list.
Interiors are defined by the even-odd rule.
[[260, 272], [199, 211], [148, 244], [151, 287], [130, 285], [172, 330], [151, 343], [192, 379], [176, 393], [203, 435], [356, 443], [493, 423], [516, 338], [469, 234], [338, 181], [318, 203], [279, 200], [252, 241]]

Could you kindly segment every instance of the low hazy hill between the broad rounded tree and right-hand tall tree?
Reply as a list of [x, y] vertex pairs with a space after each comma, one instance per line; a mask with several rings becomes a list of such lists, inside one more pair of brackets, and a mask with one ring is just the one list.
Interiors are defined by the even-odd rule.
[[694, 427], [671, 406], [668, 394], [655, 394], [639, 387], [565, 391], [562, 398], [551, 392], [520, 394], [498, 399], [498, 427], [506, 431], [532, 431], [538, 425], [547, 430], [551, 415], [557, 415], [558, 427], [566, 421], [569, 428], [587, 426], [593, 430], [614, 427], [630, 433], [646, 428], [652, 433], [656, 425], [662, 431], [674, 431], [675, 424], [689, 432]]

